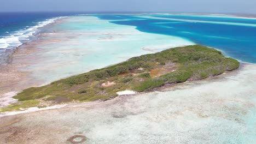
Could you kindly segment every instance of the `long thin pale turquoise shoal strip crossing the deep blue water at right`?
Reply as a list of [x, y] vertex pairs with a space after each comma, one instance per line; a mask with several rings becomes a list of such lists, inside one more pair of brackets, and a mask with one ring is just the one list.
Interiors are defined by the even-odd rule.
[[172, 19], [172, 18], [155, 17], [155, 16], [137, 16], [137, 17], [141, 17], [141, 18], [145, 18], [145, 19], [173, 20], [173, 21], [183, 21], [183, 22], [200, 22], [200, 23], [214, 23], [214, 24], [222, 24], [222, 25], [256, 27], [255, 24], [250, 24], [250, 23], [235, 23], [235, 22], [220, 22], [220, 21], [200, 21], [200, 20]]

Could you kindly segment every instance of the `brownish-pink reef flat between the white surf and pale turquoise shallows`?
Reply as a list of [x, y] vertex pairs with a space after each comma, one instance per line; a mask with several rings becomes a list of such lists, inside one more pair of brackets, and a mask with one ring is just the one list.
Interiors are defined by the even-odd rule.
[[[62, 22], [65, 18], [57, 19], [54, 23], [39, 28], [41, 31], [43, 28], [48, 28]], [[0, 98], [1, 95], [7, 92], [19, 92], [27, 87], [39, 86], [39, 81], [33, 81], [33, 77], [30, 71], [22, 70], [36, 63], [39, 59], [37, 53], [42, 52], [42, 49], [36, 47], [40, 33], [36, 35], [29, 43], [24, 43], [15, 49], [9, 50], [7, 55], [3, 58], [3, 63], [0, 63]]]

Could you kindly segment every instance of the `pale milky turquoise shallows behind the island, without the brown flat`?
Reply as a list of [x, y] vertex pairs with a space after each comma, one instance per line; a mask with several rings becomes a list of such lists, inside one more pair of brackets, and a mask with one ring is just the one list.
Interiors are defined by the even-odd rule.
[[116, 25], [95, 16], [72, 16], [47, 27], [33, 46], [36, 63], [25, 68], [36, 79], [49, 83], [63, 77], [107, 67], [135, 56], [170, 47], [193, 45], [183, 38], [139, 32], [133, 26]]

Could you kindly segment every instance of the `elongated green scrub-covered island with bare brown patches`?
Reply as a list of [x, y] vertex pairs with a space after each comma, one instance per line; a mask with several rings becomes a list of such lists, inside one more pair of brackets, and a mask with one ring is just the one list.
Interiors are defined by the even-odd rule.
[[200, 80], [238, 68], [240, 63], [202, 45], [175, 47], [133, 57], [107, 68], [68, 77], [42, 87], [31, 87], [13, 98], [17, 103], [0, 112], [46, 107], [61, 103], [108, 100], [117, 92], [149, 91], [166, 84]]

